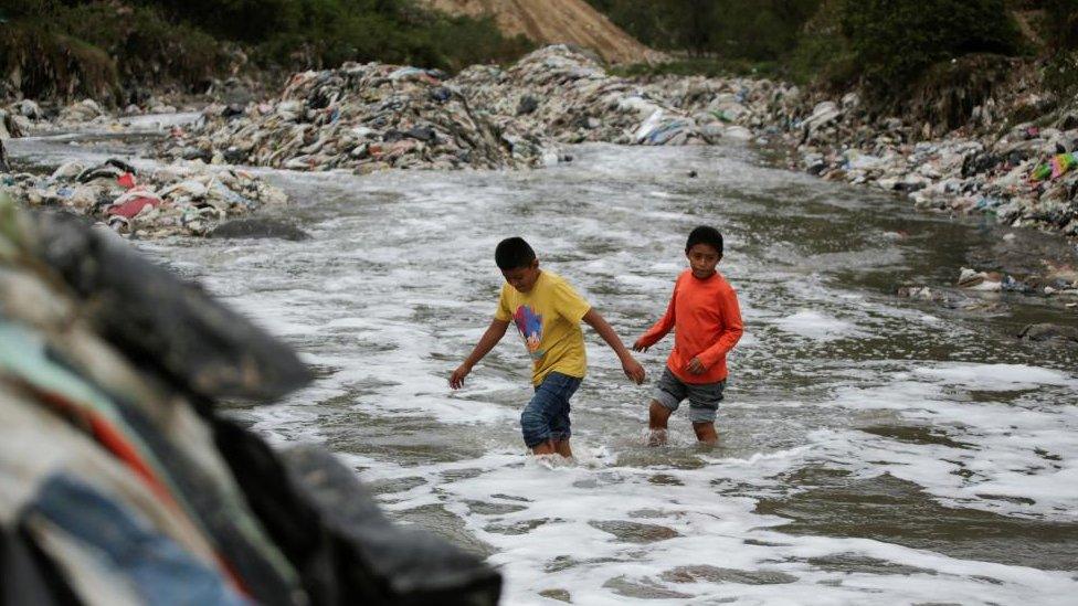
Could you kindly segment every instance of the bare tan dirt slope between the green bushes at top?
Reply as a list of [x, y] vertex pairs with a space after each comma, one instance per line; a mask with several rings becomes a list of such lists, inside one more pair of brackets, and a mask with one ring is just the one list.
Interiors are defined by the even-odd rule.
[[641, 63], [660, 55], [637, 42], [584, 0], [426, 0], [451, 14], [493, 14], [501, 31], [540, 43], [571, 43], [610, 63]]

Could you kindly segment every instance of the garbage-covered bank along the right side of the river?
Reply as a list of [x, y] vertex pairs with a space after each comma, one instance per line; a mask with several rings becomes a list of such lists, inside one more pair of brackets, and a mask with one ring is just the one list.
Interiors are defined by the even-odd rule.
[[856, 93], [820, 99], [767, 79], [675, 78], [647, 83], [653, 96], [708, 124], [743, 127], [740, 138], [796, 150], [795, 168], [827, 180], [908, 195], [919, 209], [984, 213], [1011, 226], [1078, 237], [1078, 113], [1054, 126], [1021, 124], [1000, 131], [1003, 116], [1038, 106], [1023, 82], [973, 109], [971, 123], [939, 136], [898, 117], [875, 116]]

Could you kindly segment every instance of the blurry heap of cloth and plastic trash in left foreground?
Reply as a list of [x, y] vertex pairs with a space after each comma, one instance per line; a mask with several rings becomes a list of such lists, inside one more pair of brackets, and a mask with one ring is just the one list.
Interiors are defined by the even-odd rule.
[[109, 231], [0, 200], [0, 603], [496, 604], [331, 455], [216, 406], [309, 380]]

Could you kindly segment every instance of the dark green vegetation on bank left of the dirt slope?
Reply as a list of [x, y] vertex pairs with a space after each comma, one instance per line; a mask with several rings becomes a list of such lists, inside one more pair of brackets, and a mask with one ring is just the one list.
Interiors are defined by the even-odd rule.
[[529, 49], [489, 19], [445, 15], [415, 0], [7, 0], [0, 95], [127, 103], [123, 91], [194, 91], [241, 65], [381, 61], [456, 71]]

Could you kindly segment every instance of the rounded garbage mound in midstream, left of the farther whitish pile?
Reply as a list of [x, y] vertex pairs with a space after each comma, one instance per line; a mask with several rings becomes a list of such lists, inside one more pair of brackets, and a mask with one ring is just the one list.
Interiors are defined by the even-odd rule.
[[538, 166], [535, 140], [509, 141], [436, 70], [345, 63], [294, 74], [272, 103], [214, 104], [162, 153], [293, 170]]

